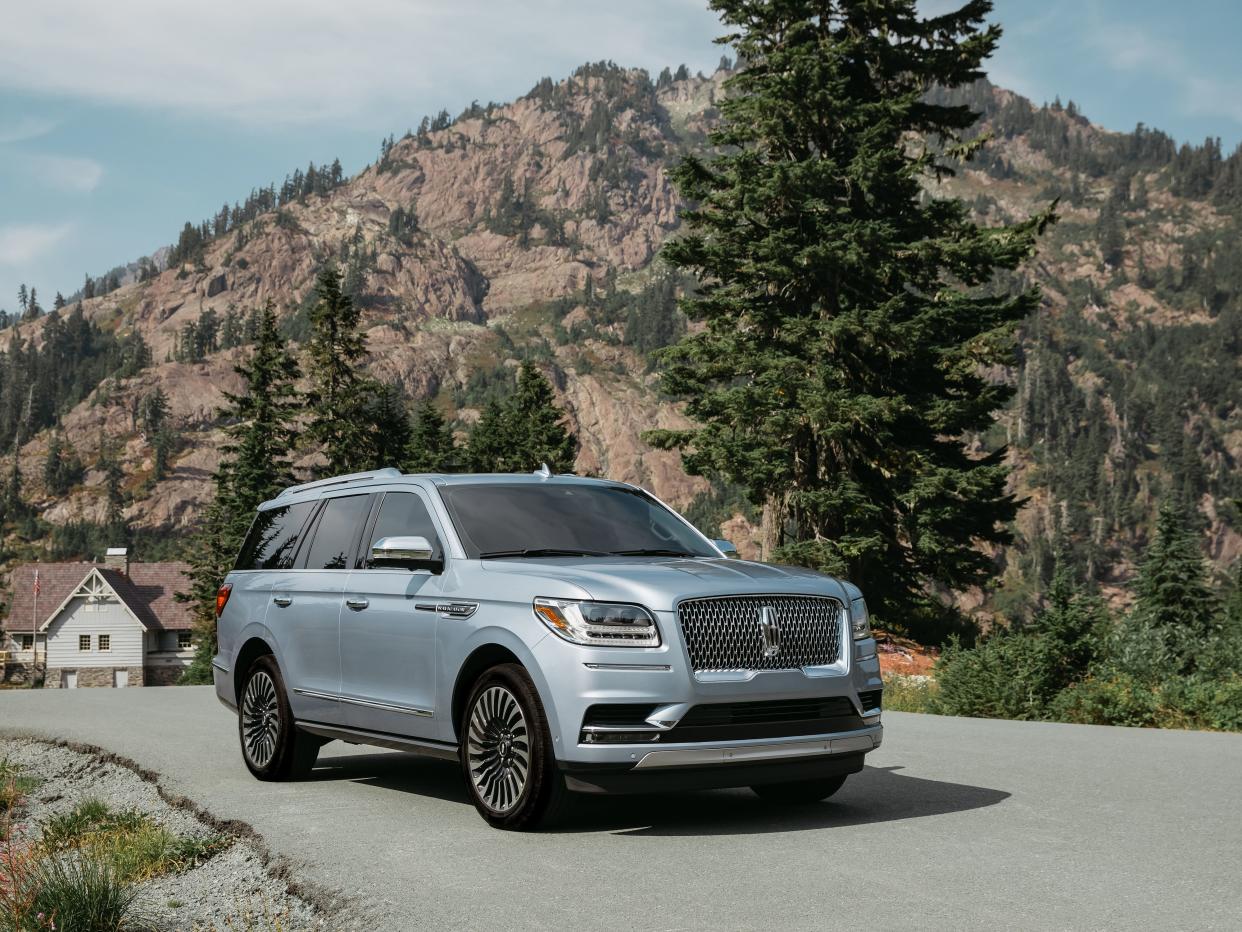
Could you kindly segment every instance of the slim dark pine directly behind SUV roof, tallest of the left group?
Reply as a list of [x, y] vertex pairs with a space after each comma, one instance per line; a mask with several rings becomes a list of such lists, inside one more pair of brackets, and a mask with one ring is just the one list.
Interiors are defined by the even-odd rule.
[[376, 385], [359, 369], [366, 354], [359, 321], [358, 306], [342, 291], [340, 272], [328, 266], [315, 282], [307, 345], [306, 432], [327, 457], [318, 470], [324, 476], [368, 468], [375, 446], [368, 408]]

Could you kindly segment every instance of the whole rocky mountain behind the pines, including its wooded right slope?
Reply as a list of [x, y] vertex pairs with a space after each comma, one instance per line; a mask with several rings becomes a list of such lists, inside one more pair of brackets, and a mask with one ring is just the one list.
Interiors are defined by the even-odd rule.
[[[245, 316], [266, 301], [291, 338], [328, 261], [365, 307], [370, 369], [410, 398], [432, 396], [463, 427], [523, 358], [551, 377], [579, 431], [580, 472], [651, 488], [698, 519], [753, 531], [730, 490], [687, 476], [641, 434], [684, 423], [661, 398], [651, 349], [682, 332], [687, 286], [657, 261], [678, 226], [667, 171], [700, 149], [724, 72], [661, 76], [610, 63], [540, 81], [507, 104], [467, 108], [386, 143], [356, 176], [170, 251], [166, 268], [82, 301], [108, 334], [138, 334], [152, 364], [111, 375], [61, 413], [84, 475], [68, 493], [41, 483], [50, 430], [25, 439], [26, 496], [50, 526], [99, 522], [102, 447], [123, 466], [132, 524], [155, 537], [193, 526], [236, 388]], [[1120, 134], [1073, 104], [1035, 107], [980, 83], [958, 94], [992, 140], [938, 193], [984, 220], [1026, 216], [1059, 198], [1059, 224], [1030, 267], [1045, 302], [1021, 334], [1020, 364], [997, 378], [1018, 395], [980, 449], [1007, 442], [1028, 498], [1016, 543], [997, 554], [995, 592], [964, 604], [1017, 614], [1051, 570], [1053, 538], [1124, 598], [1155, 502], [1186, 496], [1212, 558], [1242, 552], [1242, 309], [1232, 159], [1143, 127]], [[997, 282], [1009, 287], [1021, 282]], [[37, 347], [45, 322], [0, 334]], [[231, 329], [230, 329], [231, 328]], [[5, 339], [7, 337], [7, 339]], [[170, 475], [152, 482], [140, 405], [156, 388], [181, 435]], [[1194, 473], [1194, 475], [1190, 475]], [[46, 529], [46, 528], [45, 528]], [[16, 548], [16, 549], [14, 549]], [[10, 548], [12, 553], [20, 546]]]

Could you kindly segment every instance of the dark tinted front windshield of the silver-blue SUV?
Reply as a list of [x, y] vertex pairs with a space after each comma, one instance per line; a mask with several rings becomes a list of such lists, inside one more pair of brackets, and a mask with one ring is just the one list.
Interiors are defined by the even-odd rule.
[[651, 496], [568, 482], [450, 485], [441, 495], [466, 554], [719, 557]]

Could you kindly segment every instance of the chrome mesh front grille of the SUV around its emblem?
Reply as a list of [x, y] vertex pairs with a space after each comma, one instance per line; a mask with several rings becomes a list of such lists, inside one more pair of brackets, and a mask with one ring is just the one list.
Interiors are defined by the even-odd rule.
[[[764, 608], [775, 613], [780, 651], [765, 656]], [[730, 595], [688, 599], [677, 606], [694, 672], [797, 670], [836, 664], [842, 606], [814, 595]]]

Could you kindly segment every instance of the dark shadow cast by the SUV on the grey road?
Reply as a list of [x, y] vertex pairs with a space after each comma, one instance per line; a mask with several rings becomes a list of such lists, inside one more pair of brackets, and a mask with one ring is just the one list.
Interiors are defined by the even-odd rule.
[[[900, 767], [864, 767], [822, 803], [787, 806], [746, 789], [652, 795], [579, 797], [573, 818], [558, 831], [619, 835], [751, 835], [807, 831], [922, 819], [996, 805], [1010, 794], [966, 783], [900, 773]], [[322, 756], [312, 780], [350, 780], [400, 793], [471, 805], [461, 768], [399, 752]]]

